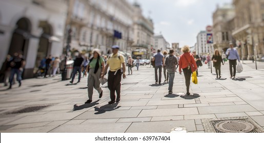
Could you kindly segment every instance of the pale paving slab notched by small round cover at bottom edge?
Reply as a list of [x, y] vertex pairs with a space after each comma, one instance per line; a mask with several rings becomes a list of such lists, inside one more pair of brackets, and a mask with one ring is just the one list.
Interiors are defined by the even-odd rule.
[[196, 131], [194, 120], [161, 121], [132, 123], [126, 133], [169, 133], [172, 128], [186, 127], [187, 131]]

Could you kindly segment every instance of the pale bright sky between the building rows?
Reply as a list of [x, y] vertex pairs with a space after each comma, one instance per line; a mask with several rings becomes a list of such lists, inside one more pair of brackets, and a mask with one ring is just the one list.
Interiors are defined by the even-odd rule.
[[196, 36], [213, 23], [217, 4], [232, 4], [232, 0], [128, 0], [137, 2], [143, 15], [154, 22], [154, 33], [163, 34], [170, 43], [194, 46]]

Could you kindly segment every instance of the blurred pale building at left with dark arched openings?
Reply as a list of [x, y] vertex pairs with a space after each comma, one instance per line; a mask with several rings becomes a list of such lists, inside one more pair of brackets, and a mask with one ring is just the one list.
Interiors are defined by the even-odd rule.
[[1, 67], [8, 54], [21, 53], [26, 60], [23, 78], [33, 78], [40, 60], [62, 55], [66, 16], [64, 0], [0, 1]]

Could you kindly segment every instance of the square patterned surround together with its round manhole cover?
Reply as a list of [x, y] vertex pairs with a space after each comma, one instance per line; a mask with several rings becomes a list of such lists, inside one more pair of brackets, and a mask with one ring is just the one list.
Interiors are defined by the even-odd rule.
[[264, 129], [249, 117], [214, 118], [202, 120], [205, 132], [262, 133]]

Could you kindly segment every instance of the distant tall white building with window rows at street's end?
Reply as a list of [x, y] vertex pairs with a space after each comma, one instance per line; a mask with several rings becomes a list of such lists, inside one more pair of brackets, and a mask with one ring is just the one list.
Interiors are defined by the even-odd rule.
[[207, 33], [206, 31], [200, 31], [197, 35], [197, 45], [195, 51], [198, 55], [213, 54], [213, 45], [207, 44]]

